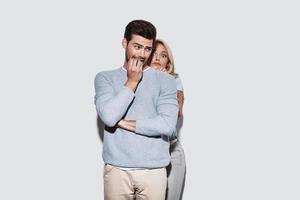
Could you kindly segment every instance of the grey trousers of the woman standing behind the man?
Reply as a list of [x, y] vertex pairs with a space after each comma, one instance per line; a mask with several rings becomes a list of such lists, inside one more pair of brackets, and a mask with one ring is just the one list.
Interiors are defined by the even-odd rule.
[[186, 164], [183, 148], [179, 140], [170, 146], [171, 163], [167, 167], [167, 200], [180, 200], [184, 190]]

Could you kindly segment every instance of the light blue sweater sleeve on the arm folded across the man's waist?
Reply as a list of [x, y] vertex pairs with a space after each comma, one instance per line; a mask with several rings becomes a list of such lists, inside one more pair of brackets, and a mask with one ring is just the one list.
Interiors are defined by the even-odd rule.
[[149, 119], [137, 119], [137, 134], [146, 136], [171, 136], [176, 131], [178, 101], [176, 82], [173, 77], [164, 77], [157, 102], [157, 115]]

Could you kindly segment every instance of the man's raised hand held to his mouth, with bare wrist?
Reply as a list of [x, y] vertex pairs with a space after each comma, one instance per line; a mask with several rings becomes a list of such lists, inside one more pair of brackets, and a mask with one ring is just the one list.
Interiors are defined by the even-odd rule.
[[140, 58], [132, 57], [127, 63], [127, 81], [125, 86], [129, 87], [132, 91], [136, 90], [136, 87], [143, 76], [143, 64], [144, 62]]

